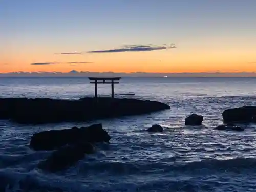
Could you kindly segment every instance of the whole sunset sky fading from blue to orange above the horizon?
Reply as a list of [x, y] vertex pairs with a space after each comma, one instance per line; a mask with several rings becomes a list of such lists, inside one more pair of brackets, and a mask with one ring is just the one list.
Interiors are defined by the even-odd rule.
[[[255, 0], [0, 0], [0, 3], [2, 73], [73, 69], [170, 73], [256, 71]], [[177, 48], [55, 54], [172, 43]]]

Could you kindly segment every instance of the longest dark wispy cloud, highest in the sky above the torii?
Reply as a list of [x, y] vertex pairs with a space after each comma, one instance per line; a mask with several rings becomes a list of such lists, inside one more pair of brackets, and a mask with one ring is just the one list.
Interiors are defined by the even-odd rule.
[[56, 53], [56, 54], [83, 54], [83, 53], [119, 53], [119, 52], [141, 52], [141, 51], [155, 51], [155, 50], [165, 50], [170, 48], [176, 48], [175, 44], [162, 45], [127, 45], [121, 48], [113, 48], [108, 50], [95, 50], [95, 51], [82, 51], [82, 52], [68, 52], [68, 53]]

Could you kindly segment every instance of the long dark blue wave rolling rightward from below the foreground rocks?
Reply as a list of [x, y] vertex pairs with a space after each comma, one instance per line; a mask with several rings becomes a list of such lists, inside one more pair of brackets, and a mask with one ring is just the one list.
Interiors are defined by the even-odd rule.
[[[189, 163], [177, 163], [176, 157], [171, 161], [151, 161], [151, 162], [80, 162], [77, 166], [77, 172], [84, 173], [102, 173], [113, 175], [141, 175], [156, 173], [196, 173], [196, 172], [240, 172], [255, 171], [256, 159], [253, 158], [235, 158], [227, 160], [205, 159]], [[255, 167], [255, 168], [254, 168]], [[178, 173], [177, 173], [178, 172]]]

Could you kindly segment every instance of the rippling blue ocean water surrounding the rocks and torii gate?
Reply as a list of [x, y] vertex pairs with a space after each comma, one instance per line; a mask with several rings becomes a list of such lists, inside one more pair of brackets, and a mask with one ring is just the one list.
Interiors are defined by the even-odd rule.
[[[171, 109], [88, 123], [0, 121], [0, 191], [256, 191], [256, 126], [244, 132], [213, 130], [225, 109], [256, 105], [255, 84], [256, 78], [122, 78], [116, 97], [157, 100]], [[110, 93], [110, 85], [99, 86], [99, 95]], [[93, 95], [87, 78], [0, 78], [0, 97]], [[204, 116], [202, 126], [184, 125], [191, 113]], [[110, 144], [98, 145], [97, 153], [62, 172], [37, 169], [51, 152], [28, 147], [34, 133], [93, 123], [103, 124]], [[152, 124], [164, 132], [142, 131]]]

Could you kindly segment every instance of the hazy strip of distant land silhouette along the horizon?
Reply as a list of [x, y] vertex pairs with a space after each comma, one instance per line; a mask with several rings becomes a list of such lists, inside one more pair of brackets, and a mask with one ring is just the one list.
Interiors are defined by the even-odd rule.
[[115, 72], [89, 72], [72, 70], [62, 72], [10, 72], [0, 73], [0, 77], [256, 77], [256, 72], [200, 72], [200, 73], [115, 73]]

